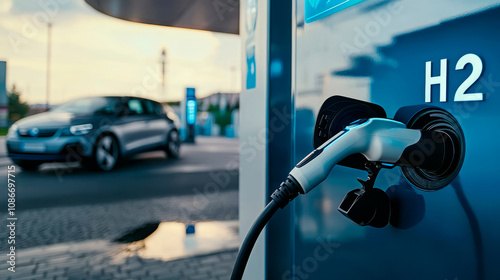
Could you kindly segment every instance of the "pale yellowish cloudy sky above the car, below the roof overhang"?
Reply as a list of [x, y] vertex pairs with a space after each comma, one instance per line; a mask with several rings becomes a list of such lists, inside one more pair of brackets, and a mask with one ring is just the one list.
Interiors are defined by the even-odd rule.
[[[0, 0], [0, 61], [7, 61], [7, 89], [15, 84], [28, 103], [46, 102], [47, 21], [52, 23], [50, 104], [94, 95], [176, 101], [186, 87], [195, 87], [198, 97], [240, 91], [237, 35], [128, 22], [83, 0]], [[165, 90], [162, 49], [167, 52]]]

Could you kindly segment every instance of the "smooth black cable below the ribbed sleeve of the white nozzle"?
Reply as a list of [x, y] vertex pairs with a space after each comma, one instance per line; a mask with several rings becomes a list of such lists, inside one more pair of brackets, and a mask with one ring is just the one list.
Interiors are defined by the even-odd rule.
[[250, 257], [250, 253], [252, 252], [253, 246], [255, 245], [260, 232], [278, 209], [279, 205], [274, 200], [271, 200], [257, 220], [253, 223], [252, 228], [250, 228], [250, 231], [245, 237], [245, 241], [243, 241], [241, 249], [238, 252], [231, 280], [240, 280], [243, 277], [243, 272], [245, 271], [248, 258]]

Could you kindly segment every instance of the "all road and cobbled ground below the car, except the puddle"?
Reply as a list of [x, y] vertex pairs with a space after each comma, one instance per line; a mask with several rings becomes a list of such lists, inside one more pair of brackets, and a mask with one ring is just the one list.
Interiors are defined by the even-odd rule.
[[[3, 146], [0, 138], [0, 146]], [[0, 149], [0, 180], [11, 162]], [[238, 218], [238, 141], [199, 138], [182, 158], [151, 152], [109, 173], [78, 164], [16, 172], [16, 273], [0, 243], [0, 279], [228, 279], [235, 249], [187, 259], [145, 259], [112, 242], [146, 223]], [[7, 209], [7, 192], [0, 192]], [[6, 221], [6, 211], [0, 219]], [[2, 236], [8, 234], [1, 230]]]

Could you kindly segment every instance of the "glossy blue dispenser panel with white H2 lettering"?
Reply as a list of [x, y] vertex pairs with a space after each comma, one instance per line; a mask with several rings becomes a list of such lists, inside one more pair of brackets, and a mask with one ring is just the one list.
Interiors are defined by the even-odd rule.
[[283, 279], [500, 279], [500, 1], [367, 0], [315, 21], [309, 2], [297, 1], [295, 162], [313, 149], [315, 116], [332, 95], [377, 103], [389, 117], [442, 107], [462, 125], [466, 157], [438, 191], [382, 171], [376, 187], [400, 205], [399, 223], [382, 229], [337, 211], [366, 172], [335, 167], [295, 202]]

